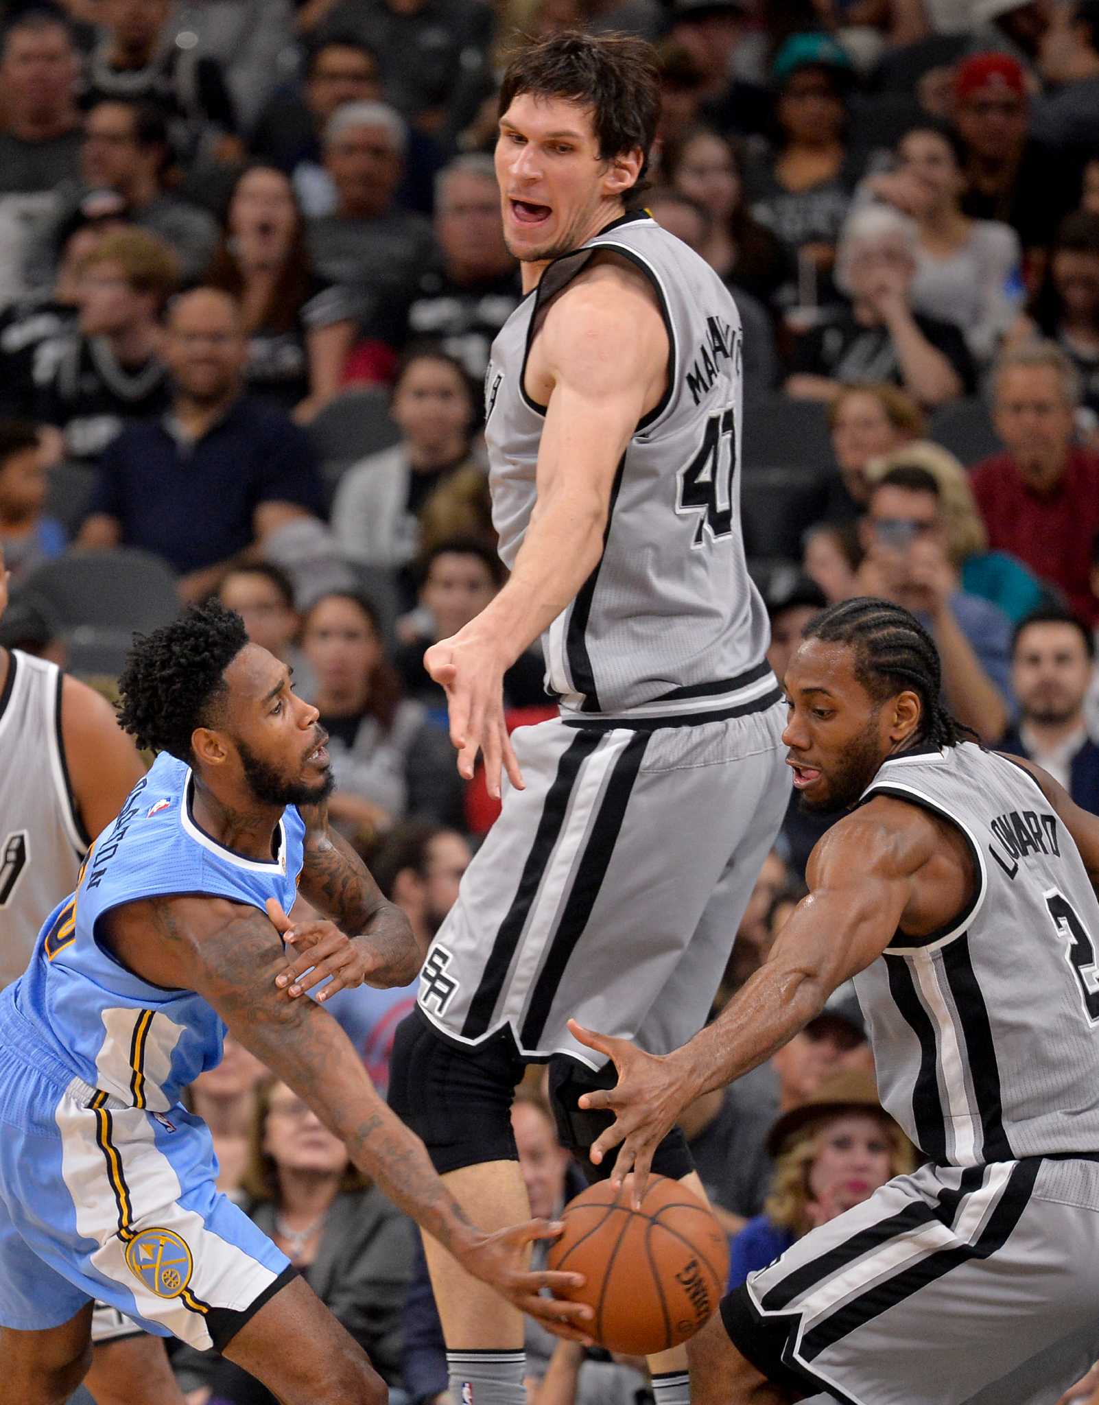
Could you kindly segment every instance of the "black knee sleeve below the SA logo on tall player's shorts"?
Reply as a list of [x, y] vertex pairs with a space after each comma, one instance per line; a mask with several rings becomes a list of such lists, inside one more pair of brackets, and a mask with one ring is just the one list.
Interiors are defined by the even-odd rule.
[[458, 1048], [413, 1010], [394, 1040], [389, 1106], [423, 1141], [440, 1175], [517, 1161], [512, 1100], [521, 1076], [507, 1034]]

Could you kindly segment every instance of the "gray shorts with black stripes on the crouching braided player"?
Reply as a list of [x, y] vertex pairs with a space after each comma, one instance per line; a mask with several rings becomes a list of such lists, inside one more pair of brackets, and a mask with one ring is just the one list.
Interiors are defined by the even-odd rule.
[[795, 1398], [1055, 1405], [1099, 1360], [1099, 1162], [922, 1166], [721, 1304]]

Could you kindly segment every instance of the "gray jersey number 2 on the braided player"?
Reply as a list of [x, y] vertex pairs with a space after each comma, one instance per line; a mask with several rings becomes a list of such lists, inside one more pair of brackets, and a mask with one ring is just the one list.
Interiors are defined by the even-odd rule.
[[871, 795], [951, 821], [978, 874], [947, 930], [854, 979], [883, 1104], [939, 1165], [1099, 1152], [1099, 902], [1037, 781], [967, 742], [892, 757]]

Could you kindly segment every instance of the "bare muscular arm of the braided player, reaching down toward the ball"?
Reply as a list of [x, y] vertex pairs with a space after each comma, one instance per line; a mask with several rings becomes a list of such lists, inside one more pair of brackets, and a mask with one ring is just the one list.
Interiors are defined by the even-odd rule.
[[639, 1197], [652, 1154], [682, 1109], [770, 1058], [821, 1013], [838, 985], [881, 955], [935, 839], [929, 821], [890, 799], [874, 799], [833, 826], [809, 857], [809, 894], [767, 961], [713, 1024], [673, 1054], [644, 1054], [628, 1040], [593, 1035], [572, 1021], [573, 1035], [618, 1069], [616, 1087], [580, 1099], [582, 1107], [616, 1114], [592, 1146], [592, 1159], [599, 1163], [621, 1142], [614, 1179], [632, 1168]]

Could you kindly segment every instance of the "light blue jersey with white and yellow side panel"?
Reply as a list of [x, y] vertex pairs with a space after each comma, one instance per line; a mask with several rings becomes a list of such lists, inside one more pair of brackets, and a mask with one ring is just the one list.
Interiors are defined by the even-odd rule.
[[290, 912], [305, 825], [288, 806], [270, 863], [245, 858], [204, 833], [193, 813], [191, 770], [162, 753], [114, 825], [96, 842], [76, 892], [46, 919], [25, 974], [11, 988], [53, 1057], [128, 1107], [166, 1113], [222, 1055], [225, 1024], [193, 991], [166, 991], [128, 971], [97, 940], [100, 919], [124, 903], [207, 894]]

